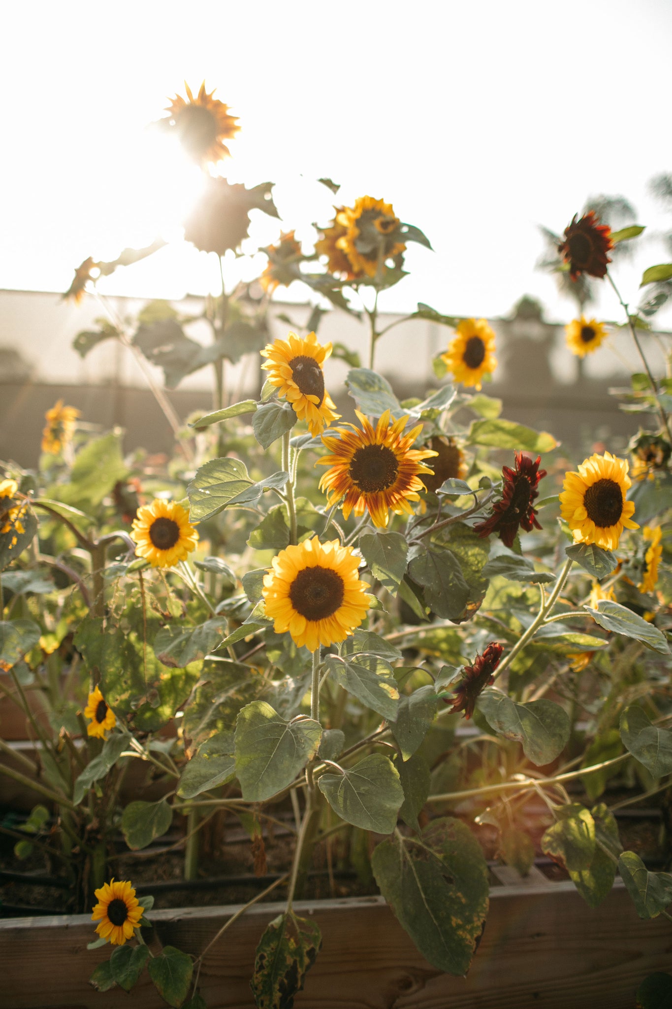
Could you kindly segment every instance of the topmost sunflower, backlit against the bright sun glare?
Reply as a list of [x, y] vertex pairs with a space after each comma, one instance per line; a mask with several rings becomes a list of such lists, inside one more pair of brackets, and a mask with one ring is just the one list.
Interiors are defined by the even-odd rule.
[[196, 98], [186, 81], [184, 90], [186, 100], [175, 95], [165, 110], [167, 117], [160, 124], [177, 134], [182, 147], [198, 164], [229, 157], [231, 151], [222, 141], [231, 140], [240, 130], [238, 116], [230, 115], [229, 106], [213, 98], [215, 90], [207, 93], [205, 81]]

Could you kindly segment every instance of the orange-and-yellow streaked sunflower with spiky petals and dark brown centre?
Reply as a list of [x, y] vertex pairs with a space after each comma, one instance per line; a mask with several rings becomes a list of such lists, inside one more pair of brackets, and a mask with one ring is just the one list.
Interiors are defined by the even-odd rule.
[[420, 477], [431, 473], [422, 460], [436, 453], [411, 448], [422, 425], [404, 434], [408, 417], [391, 423], [390, 411], [386, 410], [374, 428], [359, 410], [355, 413], [361, 431], [348, 424], [334, 428], [334, 437], [322, 435], [329, 455], [322, 456], [317, 464], [331, 468], [322, 473], [319, 488], [328, 494], [329, 508], [344, 498], [344, 519], [353, 509], [358, 517], [368, 509], [374, 526], [384, 527], [390, 509], [396, 515], [412, 514], [410, 501], [419, 501], [418, 491], [424, 490]]

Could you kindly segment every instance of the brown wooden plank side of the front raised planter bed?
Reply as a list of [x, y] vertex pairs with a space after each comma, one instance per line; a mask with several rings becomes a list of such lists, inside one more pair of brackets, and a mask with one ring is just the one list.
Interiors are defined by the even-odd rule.
[[[209, 1009], [250, 1009], [261, 931], [281, 904], [252, 908], [209, 955], [200, 991]], [[197, 954], [235, 908], [151, 914], [156, 937]], [[633, 1009], [640, 982], [672, 970], [672, 923], [640, 921], [622, 886], [591, 911], [571, 883], [496, 887], [466, 978], [440, 974], [416, 950], [382, 898], [306, 902], [323, 944], [297, 1009]], [[87, 915], [0, 920], [3, 1009], [163, 1009], [147, 974], [129, 996], [88, 985], [109, 946], [88, 950]]]

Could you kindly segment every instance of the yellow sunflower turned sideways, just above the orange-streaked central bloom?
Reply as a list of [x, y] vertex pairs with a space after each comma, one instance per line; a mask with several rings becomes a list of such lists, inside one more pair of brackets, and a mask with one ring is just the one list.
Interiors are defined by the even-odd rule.
[[280, 398], [291, 404], [299, 421], [305, 421], [313, 437], [341, 416], [334, 413], [335, 405], [324, 388], [322, 365], [330, 353], [331, 344], [322, 347], [314, 333], [305, 339], [289, 333], [286, 340], [268, 343], [261, 351], [262, 357], [268, 357], [262, 364], [268, 380], [277, 386]]

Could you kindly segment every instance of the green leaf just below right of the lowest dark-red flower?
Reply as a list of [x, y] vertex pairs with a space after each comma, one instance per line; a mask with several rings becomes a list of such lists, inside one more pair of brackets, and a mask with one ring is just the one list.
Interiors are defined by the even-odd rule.
[[569, 715], [545, 697], [520, 704], [500, 690], [489, 689], [481, 694], [479, 707], [496, 733], [523, 744], [523, 753], [537, 767], [554, 761], [569, 742]]

